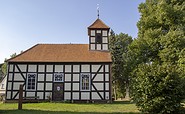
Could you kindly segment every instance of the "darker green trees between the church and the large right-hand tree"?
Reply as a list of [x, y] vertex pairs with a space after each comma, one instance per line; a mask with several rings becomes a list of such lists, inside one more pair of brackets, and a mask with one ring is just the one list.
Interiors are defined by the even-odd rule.
[[111, 31], [109, 41], [113, 60], [112, 75], [113, 86], [116, 90], [116, 93], [114, 92], [114, 94], [116, 94], [115, 98], [124, 97], [126, 85], [129, 84], [128, 46], [132, 42], [132, 37], [123, 33], [115, 35], [114, 32]]

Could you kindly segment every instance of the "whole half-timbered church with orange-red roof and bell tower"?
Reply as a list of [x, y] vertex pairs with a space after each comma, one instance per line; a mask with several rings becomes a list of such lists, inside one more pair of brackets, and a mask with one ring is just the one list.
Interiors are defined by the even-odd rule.
[[89, 44], [37, 44], [8, 60], [6, 101], [111, 101], [109, 27], [88, 27]]

